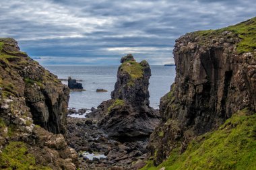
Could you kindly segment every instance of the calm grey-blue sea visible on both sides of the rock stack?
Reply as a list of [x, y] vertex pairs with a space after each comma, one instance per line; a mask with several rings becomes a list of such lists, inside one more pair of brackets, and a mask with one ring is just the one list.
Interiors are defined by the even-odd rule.
[[[86, 91], [72, 91], [70, 93], [69, 108], [96, 108], [102, 101], [110, 99], [117, 81], [118, 66], [81, 66], [81, 65], [44, 65], [46, 69], [59, 77], [83, 80]], [[174, 82], [174, 66], [151, 66], [150, 77], [150, 105], [158, 108], [160, 97], [170, 91]], [[67, 84], [67, 82], [63, 81]], [[106, 93], [97, 93], [96, 89], [106, 89]]]

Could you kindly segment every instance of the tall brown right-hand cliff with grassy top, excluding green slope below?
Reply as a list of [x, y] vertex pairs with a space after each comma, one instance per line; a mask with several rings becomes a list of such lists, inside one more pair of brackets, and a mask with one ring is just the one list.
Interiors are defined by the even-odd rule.
[[183, 153], [195, 136], [218, 128], [232, 114], [256, 110], [256, 19], [176, 40], [176, 79], [160, 101], [162, 123], [150, 137], [159, 165]]

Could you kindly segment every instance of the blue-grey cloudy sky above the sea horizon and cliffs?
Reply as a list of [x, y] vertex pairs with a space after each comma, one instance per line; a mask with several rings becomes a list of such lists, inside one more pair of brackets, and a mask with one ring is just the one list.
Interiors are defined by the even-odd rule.
[[256, 16], [255, 0], [1, 0], [0, 37], [42, 65], [173, 63], [175, 39]]

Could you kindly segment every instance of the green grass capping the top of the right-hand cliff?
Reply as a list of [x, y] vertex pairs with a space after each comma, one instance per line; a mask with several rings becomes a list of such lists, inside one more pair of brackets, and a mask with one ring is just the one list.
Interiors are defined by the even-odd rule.
[[[223, 32], [231, 32], [231, 34], [223, 35]], [[241, 22], [234, 26], [228, 26], [219, 30], [205, 30], [193, 32], [202, 39], [212, 39], [216, 36], [226, 36], [227, 38], [239, 38], [240, 42], [237, 44], [237, 52], [253, 52], [256, 50], [256, 17]]]

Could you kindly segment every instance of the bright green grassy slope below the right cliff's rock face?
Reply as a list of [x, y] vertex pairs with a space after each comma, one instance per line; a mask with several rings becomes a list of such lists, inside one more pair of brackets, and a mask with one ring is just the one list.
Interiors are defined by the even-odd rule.
[[154, 167], [153, 161], [142, 170], [171, 169], [255, 169], [256, 114], [242, 110], [213, 132], [198, 136], [185, 153], [172, 150], [166, 161]]

